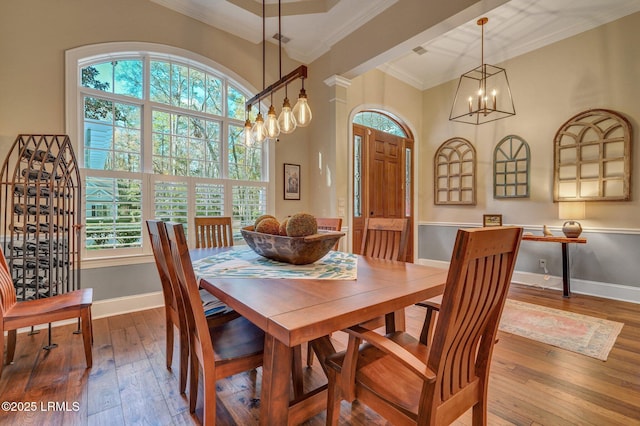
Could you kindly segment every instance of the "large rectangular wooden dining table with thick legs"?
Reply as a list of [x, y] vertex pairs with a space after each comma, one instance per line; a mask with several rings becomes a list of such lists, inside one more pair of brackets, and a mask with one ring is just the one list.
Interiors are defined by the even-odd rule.
[[[233, 248], [190, 251], [192, 261]], [[261, 425], [291, 425], [326, 409], [326, 385], [291, 398], [292, 348], [312, 342], [320, 362], [334, 352], [329, 335], [377, 317], [404, 329], [404, 308], [442, 294], [447, 269], [355, 256], [352, 279], [201, 276], [210, 292], [265, 332]], [[196, 273], [197, 275], [197, 273]], [[399, 315], [400, 314], [400, 315]]]

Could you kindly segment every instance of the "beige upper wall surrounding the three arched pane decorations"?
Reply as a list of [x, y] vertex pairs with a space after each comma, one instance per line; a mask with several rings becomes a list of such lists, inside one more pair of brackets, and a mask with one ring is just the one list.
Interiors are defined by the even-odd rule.
[[[501, 213], [510, 224], [561, 225], [553, 203], [553, 138], [569, 118], [589, 108], [625, 115], [634, 128], [632, 201], [588, 202], [583, 226], [640, 227], [640, 13], [503, 63], [517, 115], [473, 126], [448, 121], [457, 81], [424, 92], [419, 205], [423, 222], [479, 223], [483, 213]], [[531, 147], [531, 197], [493, 198], [492, 156], [497, 142], [515, 134]], [[448, 138], [475, 146], [478, 159], [477, 206], [433, 205], [433, 156]]]

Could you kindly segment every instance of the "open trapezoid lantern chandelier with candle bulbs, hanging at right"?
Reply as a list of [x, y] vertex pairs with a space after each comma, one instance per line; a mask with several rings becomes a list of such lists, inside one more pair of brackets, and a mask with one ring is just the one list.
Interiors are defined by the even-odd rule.
[[516, 114], [511, 88], [504, 68], [484, 63], [484, 25], [489, 18], [480, 18], [482, 28], [481, 65], [462, 74], [449, 120], [483, 124]]

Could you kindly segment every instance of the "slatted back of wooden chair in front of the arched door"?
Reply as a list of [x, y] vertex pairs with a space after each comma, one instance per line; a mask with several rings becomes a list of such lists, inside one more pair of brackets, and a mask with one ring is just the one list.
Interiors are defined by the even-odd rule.
[[367, 218], [360, 253], [386, 260], [404, 260], [409, 232], [408, 219]]

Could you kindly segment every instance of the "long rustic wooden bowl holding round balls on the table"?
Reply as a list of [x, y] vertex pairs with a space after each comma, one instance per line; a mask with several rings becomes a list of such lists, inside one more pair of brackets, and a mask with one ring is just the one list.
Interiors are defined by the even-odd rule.
[[322, 259], [344, 236], [344, 232], [327, 231], [306, 237], [285, 237], [255, 232], [253, 226], [245, 226], [240, 232], [260, 256], [292, 265], [307, 265]]

